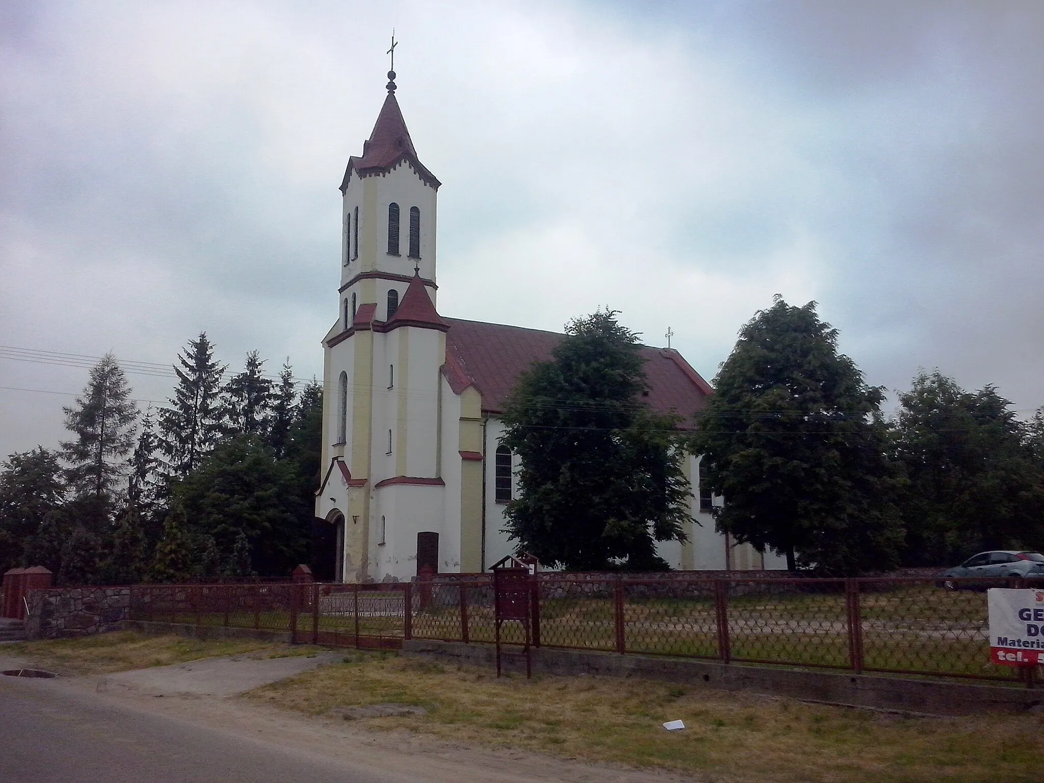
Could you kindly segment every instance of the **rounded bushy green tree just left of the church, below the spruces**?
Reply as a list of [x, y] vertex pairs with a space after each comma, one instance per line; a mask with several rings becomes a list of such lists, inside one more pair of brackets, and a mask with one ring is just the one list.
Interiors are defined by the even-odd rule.
[[236, 554], [239, 533], [251, 567], [262, 576], [287, 576], [307, 554], [311, 509], [301, 500], [294, 465], [275, 458], [255, 435], [222, 441], [204, 464], [174, 487], [190, 530], [213, 537], [222, 564]]

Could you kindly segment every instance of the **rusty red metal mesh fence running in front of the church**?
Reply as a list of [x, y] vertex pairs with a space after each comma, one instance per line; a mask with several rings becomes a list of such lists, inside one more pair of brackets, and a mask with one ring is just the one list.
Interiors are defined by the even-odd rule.
[[[535, 646], [861, 672], [1016, 680], [990, 662], [986, 589], [1004, 578], [582, 578], [532, 582]], [[1034, 585], [1036, 586], [1036, 585]], [[145, 585], [132, 619], [270, 628], [298, 642], [494, 641], [493, 584]], [[503, 627], [521, 643], [520, 625]]]

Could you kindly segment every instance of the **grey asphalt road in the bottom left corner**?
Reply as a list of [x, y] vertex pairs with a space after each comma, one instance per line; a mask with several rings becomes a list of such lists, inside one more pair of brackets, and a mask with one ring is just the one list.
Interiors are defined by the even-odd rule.
[[0, 781], [295, 780], [376, 783], [388, 777], [77, 692], [60, 681], [0, 677]]

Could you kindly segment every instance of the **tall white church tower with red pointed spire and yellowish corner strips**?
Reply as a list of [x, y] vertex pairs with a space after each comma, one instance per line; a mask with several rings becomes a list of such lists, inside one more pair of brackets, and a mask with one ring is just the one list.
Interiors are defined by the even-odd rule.
[[324, 481], [316, 516], [337, 530], [346, 582], [390, 578], [431, 561], [444, 520], [435, 311], [438, 180], [421, 163], [396, 99], [340, 185], [337, 323], [324, 340]]

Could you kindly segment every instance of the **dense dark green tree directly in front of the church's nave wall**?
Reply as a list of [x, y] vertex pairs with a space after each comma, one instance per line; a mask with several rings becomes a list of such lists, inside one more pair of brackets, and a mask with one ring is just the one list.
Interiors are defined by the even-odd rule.
[[642, 403], [640, 346], [616, 315], [572, 321], [504, 413], [502, 442], [522, 462], [507, 530], [520, 550], [570, 570], [665, 569], [655, 542], [684, 540], [690, 519], [678, 422]]

